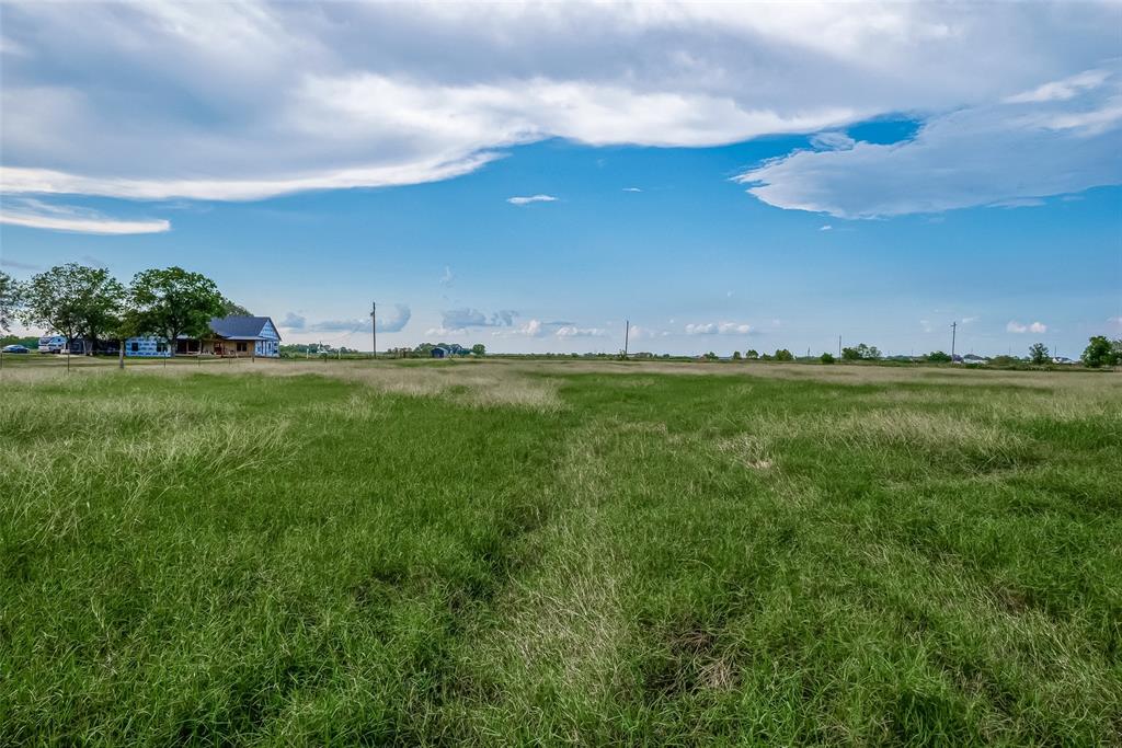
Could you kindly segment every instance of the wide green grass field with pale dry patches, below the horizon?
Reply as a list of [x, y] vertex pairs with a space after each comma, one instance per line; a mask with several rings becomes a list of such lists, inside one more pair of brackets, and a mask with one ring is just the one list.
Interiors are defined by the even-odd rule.
[[1122, 742], [1122, 376], [9, 361], [0, 744]]

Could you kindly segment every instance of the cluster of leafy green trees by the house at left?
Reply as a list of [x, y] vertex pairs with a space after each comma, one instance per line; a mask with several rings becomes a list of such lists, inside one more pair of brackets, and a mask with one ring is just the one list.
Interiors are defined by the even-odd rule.
[[[19, 283], [0, 271], [0, 331], [15, 321], [64, 335], [67, 344], [157, 335], [174, 341], [210, 331], [211, 317], [249, 314], [218, 284], [181, 267], [141, 270], [125, 285], [109, 270], [76, 262], [57, 265]], [[123, 347], [122, 347], [123, 350]]]

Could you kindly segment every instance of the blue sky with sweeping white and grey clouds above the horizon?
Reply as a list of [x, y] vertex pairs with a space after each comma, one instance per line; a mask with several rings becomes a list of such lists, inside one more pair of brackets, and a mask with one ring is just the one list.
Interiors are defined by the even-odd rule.
[[1118, 6], [754, 8], [6, 4], [0, 262], [357, 348], [1122, 333]]

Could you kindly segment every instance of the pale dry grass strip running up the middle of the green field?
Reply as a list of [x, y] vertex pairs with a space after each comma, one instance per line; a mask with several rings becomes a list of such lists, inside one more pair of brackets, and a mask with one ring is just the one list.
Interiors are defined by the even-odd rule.
[[477, 736], [603, 738], [615, 730], [617, 695], [635, 687], [625, 667], [633, 567], [606, 506], [610, 437], [603, 424], [570, 433], [543, 487], [549, 518], [522, 538], [524, 573], [475, 624], [465, 665], [486, 685], [459, 704], [458, 717]]

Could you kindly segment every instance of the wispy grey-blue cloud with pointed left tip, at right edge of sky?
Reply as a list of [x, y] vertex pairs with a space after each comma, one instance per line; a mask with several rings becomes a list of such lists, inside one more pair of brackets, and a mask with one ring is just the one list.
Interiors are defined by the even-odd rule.
[[771, 205], [850, 219], [1022, 207], [1119, 184], [1122, 73], [1094, 73], [1064, 89], [1070, 95], [960, 109], [931, 118], [912, 140], [802, 150], [737, 179]]

